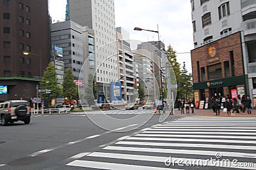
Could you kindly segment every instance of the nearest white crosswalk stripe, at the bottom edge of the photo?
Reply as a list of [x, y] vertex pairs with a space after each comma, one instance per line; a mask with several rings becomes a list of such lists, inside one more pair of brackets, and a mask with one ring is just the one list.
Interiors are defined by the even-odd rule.
[[149, 167], [149, 166], [133, 166], [128, 164], [115, 164], [115, 163], [107, 163], [107, 162], [94, 162], [88, 160], [74, 160], [67, 164], [67, 166], [79, 166], [79, 167], [90, 167], [93, 169], [111, 169], [111, 170], [176, 170], [165, 167]]

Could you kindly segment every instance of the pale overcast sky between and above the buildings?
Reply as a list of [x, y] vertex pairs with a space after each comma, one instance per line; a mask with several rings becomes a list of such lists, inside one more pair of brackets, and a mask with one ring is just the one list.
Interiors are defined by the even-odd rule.
[[[49, 0], [52, 20], [65, 20], [66, 3], [67, 0]], [[190, 53], [184, 53], [193, 49], [189, 0], [115, 0], [115, 19], [116, 27], [123, 27], [130, 33], [131, 39], [140, 41], [157, 41], [157, 34], [134, 31], [134, 27], [157, 31], [158, 24], [160, 40], [166, 47], [173, 46], [178, 61], [186, 62], [191, 72]]]

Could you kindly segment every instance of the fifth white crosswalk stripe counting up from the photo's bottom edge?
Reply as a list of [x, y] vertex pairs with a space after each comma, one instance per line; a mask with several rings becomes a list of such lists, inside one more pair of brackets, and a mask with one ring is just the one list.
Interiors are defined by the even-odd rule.
[[138, 138], [131, 137], [127, 140], [148, 140], [148, 141], [189, 141], [189, 142], [209, 142], [209, 143], [248, 143], [256, 144], [256, 141], [246, 141], [246, 140], [223, 140], [223, 139], [184, 139], [184, 138]]

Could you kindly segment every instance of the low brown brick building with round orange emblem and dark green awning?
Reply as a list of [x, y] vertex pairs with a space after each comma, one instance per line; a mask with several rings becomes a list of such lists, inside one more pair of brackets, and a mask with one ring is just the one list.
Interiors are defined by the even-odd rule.
[[191, 50], [195, 101], [246, 94], [241, 32]]

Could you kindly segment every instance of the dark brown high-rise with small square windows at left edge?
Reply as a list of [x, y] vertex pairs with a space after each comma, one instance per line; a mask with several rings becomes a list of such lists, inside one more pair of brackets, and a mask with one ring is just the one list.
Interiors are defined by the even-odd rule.
[[48, 3], [3, 0], [0, 11], [0, 101], [30, 101], [51, 58]]

